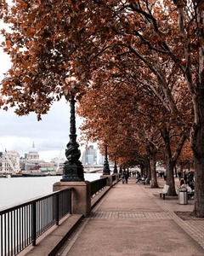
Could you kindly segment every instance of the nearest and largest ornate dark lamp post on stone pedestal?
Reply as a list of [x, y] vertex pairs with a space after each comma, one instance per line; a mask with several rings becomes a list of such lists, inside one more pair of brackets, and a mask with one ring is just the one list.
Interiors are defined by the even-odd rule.
[[70, 142], [66, 145], [66, 161], [63, 167], [61, 182], [84, 181], [83, 166], [79, 160], [81, 152], [77, 143], [76, 118], [75, 118], [75, 96], [71, 96], [71, 118], [70, 118]]

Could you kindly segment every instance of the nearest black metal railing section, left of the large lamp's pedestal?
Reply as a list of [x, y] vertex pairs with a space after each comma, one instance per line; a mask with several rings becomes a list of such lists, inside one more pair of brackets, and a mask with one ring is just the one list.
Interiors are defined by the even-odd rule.
[[71, 213], [71, 189], [26, 201], [0, 211], [0, 255], [20, 253], [66, 214]]

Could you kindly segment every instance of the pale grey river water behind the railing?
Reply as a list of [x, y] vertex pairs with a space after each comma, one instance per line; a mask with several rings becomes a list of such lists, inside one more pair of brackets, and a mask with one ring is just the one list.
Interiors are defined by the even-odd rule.
[[[101, 173], [84, 173], [85, 180], [99, 179]], [[0, 210], [53, 192], [61, 176], [0, 178]]]

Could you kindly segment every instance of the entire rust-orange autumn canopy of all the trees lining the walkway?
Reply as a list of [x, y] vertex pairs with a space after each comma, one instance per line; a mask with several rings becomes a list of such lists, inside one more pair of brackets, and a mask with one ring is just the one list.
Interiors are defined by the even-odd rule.
[[113, 154], [119, 143], [127, 150], [130, 138], [150, 153], [148, 143], [156, 150], [161, 137], [172, 188], [189, 138], [195, 213], [204, 216], [203, 1], [16, 0], [2, 7], [11, 28], [2, 31], [3, 48], [13, 66], [0, 106], [41, 119], [54, 100], [75, 94], [87, 136], [112, 140]]

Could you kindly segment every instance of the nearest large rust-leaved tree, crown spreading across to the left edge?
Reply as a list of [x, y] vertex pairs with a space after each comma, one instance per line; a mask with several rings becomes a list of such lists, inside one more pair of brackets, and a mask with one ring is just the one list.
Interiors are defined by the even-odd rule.
[[[191, 125], [195, 214], [203, 217], [203, 1], [16, 0], [10, 10], [4, 7], [3, 19], [11, 24], [12, 32], [3, 32], [3, 46], [13, 67], [3, 80], [0, 105], [14, 107], [20, 115], [34, 111], [40, 119], [54, 100], [68, 98], [89, 86], [94, 71], [111, 60], [113, 51], [117, 52], [118, 60], [124, 53], [134, 55], [130, 62], [139, 61], [152, 73], [154, 81], [157, 79], [158, 90], [155, 84], [151, 90], [161, 98], [170, 119], [182, 126], [180, 146]], [[184, 83], [183, 87], [176, 83], [178, 94], [182, 92], [184, 96], [187, 90], [190, 93], [186, 112], [192, 105], [193, 113], [189, 122], [184, 108], [175, 104], [175, 90], [167, 83], [168, 75], [173, 73], [162, 68], [166, 63]], [[114, 59], [111, 65], [115, 65]], [[161, 136], [169, 150], [169, 125], [162, 125]], [[172, 156], [167, 154], [169, 169], [173, 166]], [[171, 178], [168, 182], [172, 181]]]

